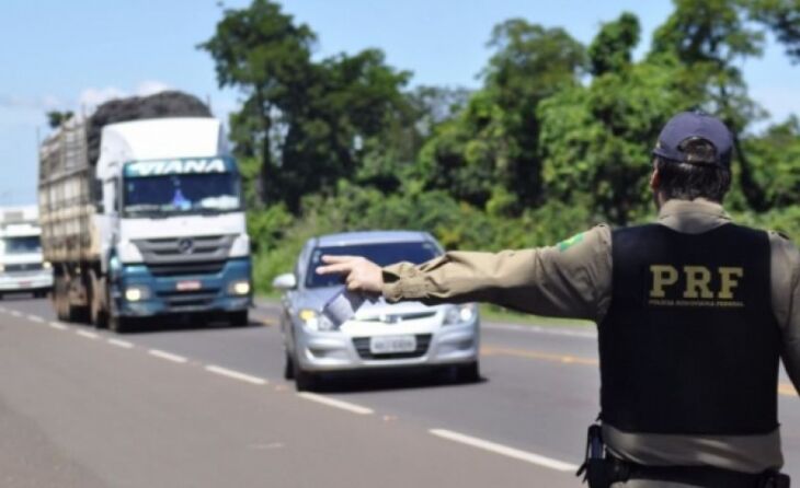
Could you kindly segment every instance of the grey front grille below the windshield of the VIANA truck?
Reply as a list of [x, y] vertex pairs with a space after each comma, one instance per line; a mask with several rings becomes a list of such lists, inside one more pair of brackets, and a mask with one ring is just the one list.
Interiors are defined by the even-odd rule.
[[148, 265], [216, 262], [228, 258], [235, 234], [133, 241]]

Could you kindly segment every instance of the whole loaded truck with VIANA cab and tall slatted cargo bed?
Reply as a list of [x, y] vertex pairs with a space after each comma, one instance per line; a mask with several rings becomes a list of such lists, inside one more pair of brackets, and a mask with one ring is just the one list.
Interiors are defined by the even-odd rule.
[[42, 243], [57, 315], [116, 332], [175, 314], [245, 325], [250, 239], [222, 126], [159, 96], [167, 100], [112, 102], [72, 118], [41, 147]]

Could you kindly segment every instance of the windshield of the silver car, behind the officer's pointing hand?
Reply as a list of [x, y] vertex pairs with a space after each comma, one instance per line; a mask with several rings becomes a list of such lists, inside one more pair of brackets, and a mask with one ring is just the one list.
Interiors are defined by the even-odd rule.
[[439, 248], [431, 242], [397, 242], [317, 247], [311, 253], [311, 262], [309, 263], [306, 277], [306, 287], [333, 287], [344, 283], [343, 278], [339, 275], [318, 275], [315, 272], [315, 269], [322, 264], [321, 258], [323, 255], [364, 256], [379, 266], [387, 266], [399, 262], [409, 262], [419, 265], [433, 259], [439, 254], [442, 254]]

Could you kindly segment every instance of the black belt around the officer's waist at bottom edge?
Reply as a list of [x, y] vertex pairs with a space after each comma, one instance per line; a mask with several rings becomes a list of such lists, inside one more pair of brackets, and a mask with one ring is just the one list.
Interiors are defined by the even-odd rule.
[[614, 465], [613, 480], [648, 479], [672, 481], [704, 488], [789, 488], [789, 477], [779, 473], [748, 474], [713, 466], [643, 466], [620, 460]]

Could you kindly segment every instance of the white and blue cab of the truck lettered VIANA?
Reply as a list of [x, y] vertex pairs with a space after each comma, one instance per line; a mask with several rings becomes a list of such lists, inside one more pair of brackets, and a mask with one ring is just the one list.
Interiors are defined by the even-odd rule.
[[248, 322], [250, 239], [240, 175], [213, 118], [103, 128], [95, 216], [112, 328], [164, 314]]

